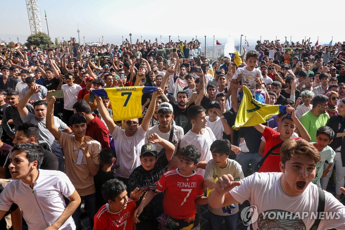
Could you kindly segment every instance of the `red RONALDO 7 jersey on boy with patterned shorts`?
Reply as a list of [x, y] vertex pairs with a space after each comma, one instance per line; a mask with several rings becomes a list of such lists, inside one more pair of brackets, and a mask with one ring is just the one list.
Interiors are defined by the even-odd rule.
[[175, 219], [187, 219], [195, 215], [195, 198], [203, 196], [204, 177], [195, 172], [181, 175], [178, 169], [169, 171], [156, 182], [157, 191], [164, 192], [163, 210]]

